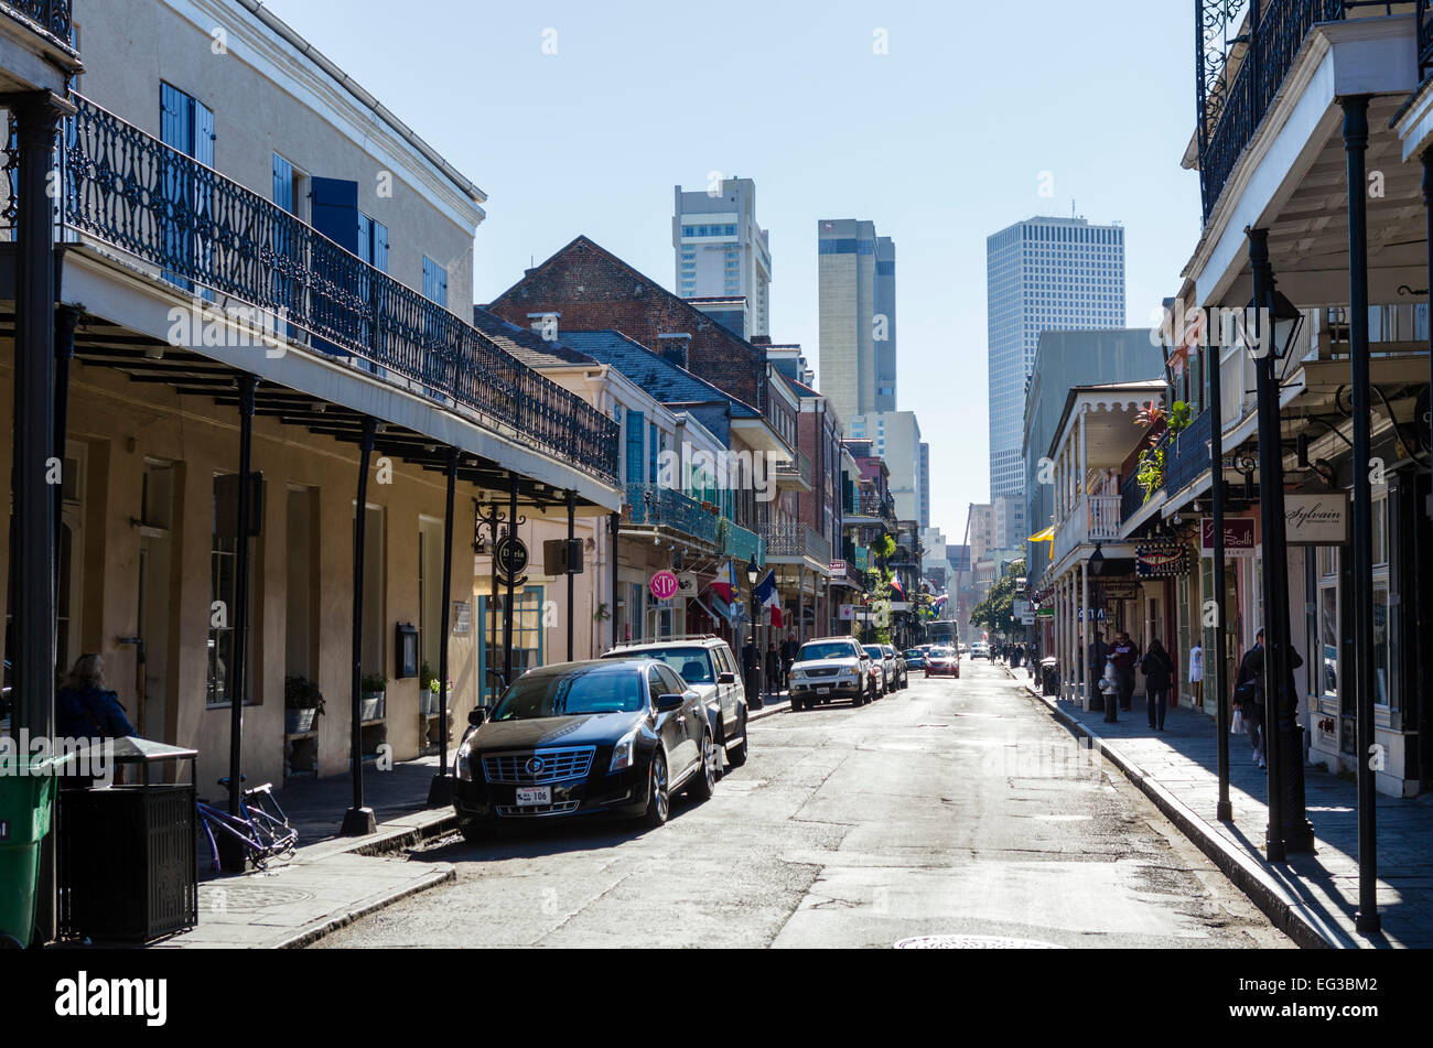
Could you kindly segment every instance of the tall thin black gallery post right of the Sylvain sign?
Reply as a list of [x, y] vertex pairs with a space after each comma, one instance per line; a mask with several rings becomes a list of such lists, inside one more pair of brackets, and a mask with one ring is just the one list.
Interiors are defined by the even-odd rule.
[[1348, 155], [1348, 352], [1353, 387], [1353, 608], [1358, 776], [1358, 932], [1379, 932], [1379, 826], [1373, 777], [1373, 457], [1369, 398], [1369, 96], [1341, 99]]

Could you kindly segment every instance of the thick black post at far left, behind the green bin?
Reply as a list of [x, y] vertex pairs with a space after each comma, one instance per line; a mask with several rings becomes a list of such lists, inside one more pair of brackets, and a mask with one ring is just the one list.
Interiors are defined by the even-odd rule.
[[[27, 94], [7, 100], [19, 123], [19, 258], [14, 289], [14, 464], [11, 513], [14, 515], [13, 593], [23, 606], [11, 608], [14, 647], [6, 656], [14, 664], [16, 737], [54, 734], [56, 653], [56, 501], [50, 480], [54, 448], [54, 238], [50, 196], [46, 192], [54, 149], [54, 126], [73, 112], [54, 94]], [[56, 936], [56, 835], [40, 845], [40, 883], [36, 939]]]

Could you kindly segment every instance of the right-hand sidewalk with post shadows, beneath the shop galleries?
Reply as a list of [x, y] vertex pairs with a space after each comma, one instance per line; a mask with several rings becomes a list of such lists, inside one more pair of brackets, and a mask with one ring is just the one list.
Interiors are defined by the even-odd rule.
[[1353, 779], [1320, 765], [1304, 769], [1305, 806], [1317, 850], [1287, 863], [1264, 858], [1267, 779], [1248, 737], [1230, 736], [1230, 800], [1234, 822], [1215, 819], [1218, 749], [1215, 722], [1188, 707], [1171, 709], [1165, 732], [1149, 730], [1142, 699], [1106, 724], [1103, 713], [1040, 696], [1016, 679], [1135, 782], [1251, 899], [1300, 945], [1337, 948], [1433, 946], [1433, 797], [1379, 795], [1379, 911], [1383, 932], [1354, 929], [1358, 905], [1358, 790]]

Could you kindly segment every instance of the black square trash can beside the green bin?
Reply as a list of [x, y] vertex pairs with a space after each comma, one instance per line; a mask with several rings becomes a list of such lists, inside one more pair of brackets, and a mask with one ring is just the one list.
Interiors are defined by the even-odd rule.
[[[60, 792], [60, 922], [69, 935], [139, 943], [199, 923], [196, 750], [113, 740], [130, 785]], [[189, 762], [189, 780], [175, 769]], [[138, 779], [138, 782], [133, 782]]]

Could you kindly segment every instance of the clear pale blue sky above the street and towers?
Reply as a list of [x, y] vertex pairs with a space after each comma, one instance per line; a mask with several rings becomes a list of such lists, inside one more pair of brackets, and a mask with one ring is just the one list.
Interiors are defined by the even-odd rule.
[[480, 302], [579, 233], [672, 286], [672, 186], [721, 170], [757, 180], [771, 335], [815, 365], [817, 220], [876, 222], [897, 248], [898, 407], [930, 441], [952, 543], [990, 494], [986, 236], [1072, 200], [1122, 222], [1144, 326], [1198, 235], [1189, 4], [268, 6], [489, 193]]

